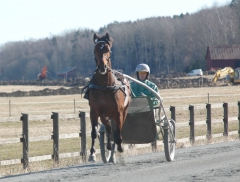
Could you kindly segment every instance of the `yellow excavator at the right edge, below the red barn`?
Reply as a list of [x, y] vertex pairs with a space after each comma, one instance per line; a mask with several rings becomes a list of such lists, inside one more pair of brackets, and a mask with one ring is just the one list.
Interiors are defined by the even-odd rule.
[[230, 83], [238, 84], [240, 83], [240, 68], [235, 70], [231, 67], [225, 67], [221, 70], [218, 70], [212, 78], [212, 82], [216, 82], [219, 78], [226, 77]]

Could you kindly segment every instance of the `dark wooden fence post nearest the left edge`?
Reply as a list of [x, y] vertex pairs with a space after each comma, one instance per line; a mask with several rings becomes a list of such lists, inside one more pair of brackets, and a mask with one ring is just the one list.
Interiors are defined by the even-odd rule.
[[20, 117], [22, 121], [22, 138], [20, 138], [20, 142], [23, 143], [23, 158], [21, 159], [21, 163], [23, 164], [23, 169], [28, 168], [29, 163], [29, 153], [28, 153], [28, 114], [23, 114]]

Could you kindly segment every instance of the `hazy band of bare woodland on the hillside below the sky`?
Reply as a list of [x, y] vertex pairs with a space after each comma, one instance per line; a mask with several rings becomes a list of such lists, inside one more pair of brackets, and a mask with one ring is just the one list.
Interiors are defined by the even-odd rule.
[[[240, 43], [240, 0], [193, 14], [115, 21], [96, 33], [106, 32], [114, 39], [112, 67], [125, 74], [134, 74], [139, 63], [147, 63], [154, 76], [205, 70], [208, 45]], [[94, 33], [77, 29], [39, 40], [8, 42], [0, 47], [0, 80], [36, 79], [44, 65], [51, 78], [65, 67], [77, 67], [78, 76], [91, 76]]]

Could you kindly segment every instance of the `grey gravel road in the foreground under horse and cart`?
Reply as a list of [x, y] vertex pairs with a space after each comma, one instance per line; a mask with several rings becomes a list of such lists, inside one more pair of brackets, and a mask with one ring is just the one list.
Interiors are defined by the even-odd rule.
[[1, 182], [45, 181], [240, 181], [240, 141], [176, 150], [175, 161], [164, 152], [121, 156], [102, 162], [0, 178]]

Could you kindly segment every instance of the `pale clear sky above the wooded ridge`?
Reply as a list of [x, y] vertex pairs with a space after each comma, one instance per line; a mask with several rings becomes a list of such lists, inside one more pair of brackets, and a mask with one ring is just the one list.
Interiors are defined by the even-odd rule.
[[77, 29], [98, 31], [114, 21], [196, 13], [231, 0], [0, 0], [0, 46], [62, 35]]

